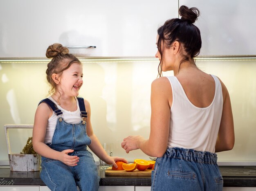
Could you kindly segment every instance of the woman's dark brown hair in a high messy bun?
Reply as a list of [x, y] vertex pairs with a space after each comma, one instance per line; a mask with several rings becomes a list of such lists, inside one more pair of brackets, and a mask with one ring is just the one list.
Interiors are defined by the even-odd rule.
[[164, 47], [170, 48], [171, 44], [175, 41], [182, 44], [184, 52], [182, 53], [183, 59], [180, 61], [180, 64], [193, 59], [200, 53], [202, 46], [200, 30], [193, 24], [195, 20], [197, 20], [199, 13], [199, 10], [195, 7], [189, 9], [182, 5], [179, 9], [181, 18], [167, 20], [164, 25], [160, 26], [157, 30], [159, 37], [157, 48], [161, 55], [158, 65], [158, 74], [160, 77], [162, 77]]

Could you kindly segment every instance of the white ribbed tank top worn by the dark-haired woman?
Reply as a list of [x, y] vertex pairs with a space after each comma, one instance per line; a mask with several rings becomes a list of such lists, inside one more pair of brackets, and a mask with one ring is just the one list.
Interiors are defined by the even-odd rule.
[[223, 97], [219, 79], [215, 81], [215, 95], [206, 108], [191, 103], [177, 77], [167, 77], [173, 91], [168, 147], [181, 147], [197, 151], [215, 152], [222, 116]]

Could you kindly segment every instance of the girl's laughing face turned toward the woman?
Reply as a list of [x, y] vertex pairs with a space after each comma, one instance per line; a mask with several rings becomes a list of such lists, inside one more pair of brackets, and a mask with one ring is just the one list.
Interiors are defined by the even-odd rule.
[[83, 66], [78, 62], [71, 64], [62, 72], [59, 79], [58, 92], [67, 96], [78, 96], [83, 85]]

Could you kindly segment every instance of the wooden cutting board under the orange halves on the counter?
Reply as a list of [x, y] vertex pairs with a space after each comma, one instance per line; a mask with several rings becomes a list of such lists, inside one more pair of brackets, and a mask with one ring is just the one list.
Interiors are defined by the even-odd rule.
[[125, 170], [112, 170], [112, 167], [109, 167], [105, 171], [106, 176], [151, 176], [151, 171], [153, 169], [147, 169], [145, 171], [139, 171], [138, 169], [132, 171], [132, 172], [127, 172]]

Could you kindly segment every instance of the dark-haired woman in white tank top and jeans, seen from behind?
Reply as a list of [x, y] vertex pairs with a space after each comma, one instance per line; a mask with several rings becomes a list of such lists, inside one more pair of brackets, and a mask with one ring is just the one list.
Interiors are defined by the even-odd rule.
[[[128, 136], [121, 145], [158, 157], [151, 190], [222, 190], [215, 152], [234, 147], [231, 101], [224, 83], [195, 65], [198, 9], [181, 6], [179, 14], [157, 31], [160, 78], [151, 86], [149, 139]], [[174, 76], [162, 77], [168, 70]]]

